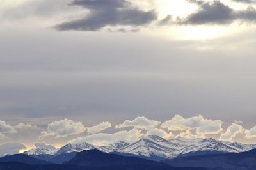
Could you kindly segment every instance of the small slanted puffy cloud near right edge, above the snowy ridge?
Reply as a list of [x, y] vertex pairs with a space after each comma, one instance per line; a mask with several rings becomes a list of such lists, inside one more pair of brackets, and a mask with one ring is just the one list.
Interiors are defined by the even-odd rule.
[[226, 132], [221, 134], [220, 139], [224, 141], [231, 141], [232, 139], [234, 139], [234, 137], [236, 137], [237, 134], [243, 134], [243, 132], [244, 128], [242, 127], [242, 125], [232, 123], [232, 125], [227, 128]]

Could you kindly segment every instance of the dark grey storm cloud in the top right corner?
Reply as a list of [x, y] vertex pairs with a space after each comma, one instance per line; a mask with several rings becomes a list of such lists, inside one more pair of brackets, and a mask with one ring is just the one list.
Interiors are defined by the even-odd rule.
[[242, 22], [256, 21], [256, 10], [253, 7], [236, 11], [220, 1], [211, 3], [191, 0], [189, 3], [197, 4], [199, 9], [180, 20], [179, 24], [230, 24], [236, 20]]

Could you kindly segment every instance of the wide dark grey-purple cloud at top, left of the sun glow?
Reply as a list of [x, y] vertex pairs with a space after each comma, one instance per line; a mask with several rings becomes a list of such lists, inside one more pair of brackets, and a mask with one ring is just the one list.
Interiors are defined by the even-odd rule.
[[143, 11], [126, 0], [74, 0], [71, 6], [82, 6], [90, 14], [56, 26], [59, 31], [97, 31], [105, 26], [143, 26], [157, 19], [154, 10]]

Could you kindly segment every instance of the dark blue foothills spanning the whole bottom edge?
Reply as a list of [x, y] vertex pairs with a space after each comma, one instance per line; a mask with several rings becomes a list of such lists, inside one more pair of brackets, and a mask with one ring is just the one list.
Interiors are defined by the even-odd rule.
[[[72, 152], [75, 153], [75, 152]], [[61, 153], [69, 154], [69, 153]], [[212, 153], [154, 161], [97, 149], [77, 152], [62, 164], [39, 160], [26, 154], [0, 158], [0, 170], [255, 170], [256, 149], [241, 153]]]

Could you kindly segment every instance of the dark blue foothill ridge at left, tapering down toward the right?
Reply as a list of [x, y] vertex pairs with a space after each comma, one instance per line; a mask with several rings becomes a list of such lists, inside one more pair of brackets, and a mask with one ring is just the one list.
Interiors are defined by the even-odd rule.
[[1, 170], [207, 170], [201, 167], [174, 167], [138, 157], [125, 157], [103, 153], [93, 149], [76, 153], [75, 157], [63, 164], [43, 162], [25, 154], [8, 155], [0, 158]]

